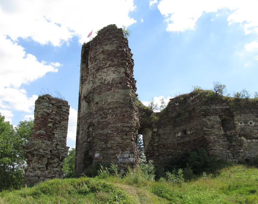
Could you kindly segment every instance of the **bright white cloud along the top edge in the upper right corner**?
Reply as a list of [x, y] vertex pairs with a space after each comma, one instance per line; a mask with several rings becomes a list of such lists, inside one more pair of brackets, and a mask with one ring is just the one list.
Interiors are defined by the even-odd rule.
[[217, 0], [217, 1], [171, 1], [161, 0], [158, 9], [168, 23], [167, 31], [185, 31], [195, 29], [195, 23], [203, 12], [217, 12], [223, 7], [232, 13], [228, 17], [229, 24], [240, 22], [244, 24], [245, 32], [257, 32], [258, 1], [256, 0]]

